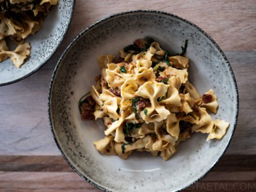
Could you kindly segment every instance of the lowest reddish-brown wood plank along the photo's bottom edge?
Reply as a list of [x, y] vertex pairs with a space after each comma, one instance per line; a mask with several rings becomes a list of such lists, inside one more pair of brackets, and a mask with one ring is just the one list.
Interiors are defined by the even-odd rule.
[[[255, 172], [210, 172], [200, 182], [184, 191], [255, 191]], [[15, 179], [14, 179], [15, 178]], [[254, 179], [254, 180], [253, 180]], [[240, 190], [238, 190], [240, 189]], [[243, 190], [242, 190], [243, 189]], [[84, 182], [76, 173], [0, 173], [1, 191], [101, 191]]]

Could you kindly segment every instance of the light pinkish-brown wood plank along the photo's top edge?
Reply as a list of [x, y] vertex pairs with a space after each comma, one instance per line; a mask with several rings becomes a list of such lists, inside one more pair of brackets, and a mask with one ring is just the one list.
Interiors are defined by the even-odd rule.
[[[75, 13], [67, 40], [111, 14], [136, 10], [155, 9], [179, 15], [205, 30], [225, 51], [255, 50], [256, 44], [256, 3], [247, 1], [76, 1]], [[82, 22], [81, 22], [82, 21]], [[66, 47], [67, 44], [63, 44]]]

